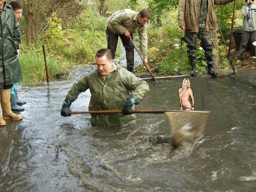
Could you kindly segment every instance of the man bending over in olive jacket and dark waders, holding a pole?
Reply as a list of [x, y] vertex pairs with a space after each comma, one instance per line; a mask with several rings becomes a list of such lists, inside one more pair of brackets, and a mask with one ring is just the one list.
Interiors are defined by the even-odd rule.
[[133, 38], [133, 33], [139, 34], [140, 52], [143, 55], [144, 63], [147, 64], [146, 23], [150, 18], [151, 14], [148, 9], [142, 9], [139, 13], [124, 9], [116, 11], [107, 20], [107, 48], [113, 51], [113, 58], [115, 59], [118, 36], [120, 36], [126, 51], [127, 70], [130, 72], [133, 72], [134, 46], [129, 38]]

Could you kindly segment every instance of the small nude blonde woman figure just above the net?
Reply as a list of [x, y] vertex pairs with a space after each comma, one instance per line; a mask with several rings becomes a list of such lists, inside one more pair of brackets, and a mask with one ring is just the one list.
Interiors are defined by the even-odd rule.
[[[191, 97], [192, 105], [189, 101]], [[188, 78], [184, 78], [182, 82], [182, 88], [179, 89], [179, 102], [181, 103], [181, 110], [186, 107], [186, 110], [194, 110], [194, 96], [192, 89], [190, 89], [190, 82]]]

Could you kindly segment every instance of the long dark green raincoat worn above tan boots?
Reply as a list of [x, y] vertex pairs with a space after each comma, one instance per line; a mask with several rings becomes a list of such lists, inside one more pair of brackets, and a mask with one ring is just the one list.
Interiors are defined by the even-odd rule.
[[10, 85], [22, 80], [17, 49], [21, 32], [15, 13], [4, 3], [0, 9], [0, 85]]

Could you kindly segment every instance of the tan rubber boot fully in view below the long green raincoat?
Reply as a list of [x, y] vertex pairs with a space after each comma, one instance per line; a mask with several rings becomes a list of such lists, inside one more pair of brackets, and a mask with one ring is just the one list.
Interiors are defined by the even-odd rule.
[[21, 120], [22, 119], [21, 115], [14, 114], [11, 111], [11, 102], [10, 102], [11, 89], [3, 90], [0, 95], [1, 95], [0, 97], [1, 106], [3, 109], [3, 118], [11, 119], [11, 120]]

